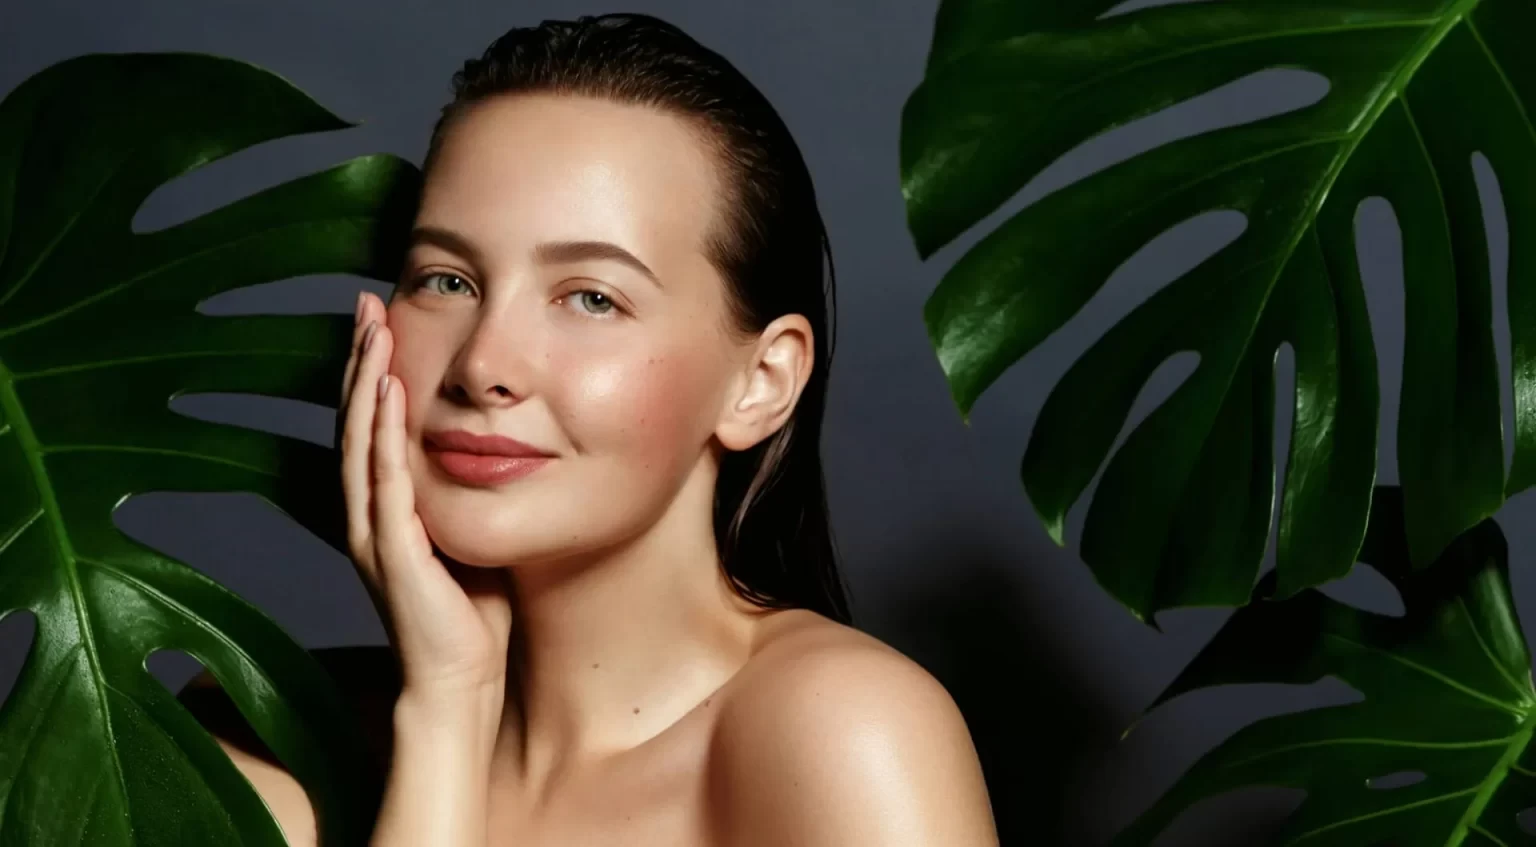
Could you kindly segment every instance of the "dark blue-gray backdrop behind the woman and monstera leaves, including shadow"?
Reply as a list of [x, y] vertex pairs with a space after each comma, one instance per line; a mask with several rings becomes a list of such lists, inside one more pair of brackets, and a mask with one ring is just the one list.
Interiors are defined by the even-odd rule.
[[[1034, 415], [1066, 366], [1147, 294], [1235, 238], [1243, 220], [1235, 212], [1204, 215], [1150, 243], [1063, 332], [988, 392], [969, 427], [928, 346], [922, 304], [980, 232], [1044, 192], [1175, 137], [1304, 106], [1327, 86], [1315, 75], [1270, 71], [1097, 138], [925, 264], [905, 229], [897, 128], [902, 103], [922, 75], [935, 8], [937, 0], [651, 0], [628, 8], [573, 0], [12, 0], [0, 2], [0, 92], [83, 52], [198, 51], [261, 65], [341, 117], [364, 121], [246, 151], [170, 183], [135, 221], [158, 228], [364, 152], [419, 163], [436, 109], [449, 97], [449, 77], [508, 26], [645, 11], [723, 52], [794, 131], [831, 229], [840, 321], [823, 450], [857, 621], [922, 661], [955, 695], [988, 769], [1005, 844], [1097, 844], [1240, 726], [1353, 696], [1332, 681], [1203, 692], [1155, 713], [1117, 744], [1138, 709], [1226, 613], [1166, 613], [1163, 635], [1135, 623], [1072, 552], [1086, 498], [1074, 512], [1072, 546], [1058, 549], [1034, 518], [1017, 475]], [[1493, 209], [1496, 329], [1507, 361], [1507, 238], [1485, 166], [1479, 181]], [[1379, 200], [1369, 201], [1359, 220], [1387, 404], [1381, 481], [1395, 483], [1398, 231]], [[1084, 240], [1084, 249], [1091, 244]], [[206, 311], [346, 312], [358, 284], [293, 280], [220, 297]], [[1180, 357], [1160, 369], [1134, 420], [1167, 397], [1190, 366], [1192, 358]], [[1281, 443], [1290, 415], [1289, 352], [1283, 377]], [[1507, 384], [1504, 401], [1508, 421]], [[330, 409], [309, 404], [209, 395], [175, 407], [330, 440]], [[1536, 538], [1530, 517], [1530, 498], [1501, 515], [1518, 564]], [[350, 564], [252, 497], [151, 493], [124, 504], [118, 523], [257, 603], [306, 646], [384, 641]], [[1513, 580], [1521, 610], [1530, 612], [1536, 598], [1527, 572], [1516, 567]], [[1329, 592], [1373, 609], [1396, 603], [1370, 573]], [[0, 692], [9, 690], [32, 626], [28, 615], [0, 624]], [[186, 656], [157, 655], [151, 664], [172, 687], [197, 670]], [[1278, 790], [1229, 795], [1200, 805], [1160, 844], [1252, 844], [1298, 798]]]

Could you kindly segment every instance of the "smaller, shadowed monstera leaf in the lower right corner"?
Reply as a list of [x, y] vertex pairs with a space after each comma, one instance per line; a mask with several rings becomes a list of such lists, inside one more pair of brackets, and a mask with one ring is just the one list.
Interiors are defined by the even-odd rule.
[[[1514, 819], [1536, 807], [1536, 689], [1504, 533], [1484, 521], [1419, 572], [1407, 543], [1402, 498], [1381, 489], [1361, 561], [1396, 586], [1402, 616], [1362, 612], [1316, 590], [1255, 603], [1233, 613], [1157, 704], [1209, 686], [1322, 676], [1366, 699], [1240, 730], [1114, 844], [1149, 844], [1197, 799], [1243, 786], [1307, 792], [1281, 844], [1536, 844]], [[1372, 787], [1412, 775], [1422, 778]]]

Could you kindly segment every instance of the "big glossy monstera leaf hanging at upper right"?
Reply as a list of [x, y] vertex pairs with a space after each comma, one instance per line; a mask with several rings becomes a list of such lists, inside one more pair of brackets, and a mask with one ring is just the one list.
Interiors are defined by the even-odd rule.
[[[1081, 555], [1143, 619], [1241, 604], [1270, 535], [1275, 358], [1295, 352], [1295, 427], [1275, 590], [1346, 573], [1376, 470], [1376, 360], [1356, 261], [1359, 203], [1402, 229], [1407, 349], [1398, 466], [1427, 564], [1536, 481], [1536, 5], [1528, 0], [1243, 0], [1123, 14], [1115, 0], [945, 0], [902, 115], [908, 221], [928, 257], [1061, 154], [1270, 68], [1327, 77], [1318, 103], [1183, 138], [1032, 203], [945, 275], [925, 317], [969, 412], [1150, 238], [1203, 212], [1243, 234], [1141, 303], [1046, 400], [1023, 460], [1061, 543], [1103, 477]], [[1473, 155], [1510, 226], [1516, 450], [1504, 477], [1488, 244]], [[1109, 453], [1147, 377], [1195, 372]], [[1395, 350], [1393, 350], [1395, 355]]]

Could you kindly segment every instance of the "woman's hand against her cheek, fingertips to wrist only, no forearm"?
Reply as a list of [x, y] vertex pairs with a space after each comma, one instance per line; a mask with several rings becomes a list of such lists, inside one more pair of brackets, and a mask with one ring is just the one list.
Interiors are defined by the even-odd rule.
[[511, 629], [505, 573], [435, 555], [416, 515], [406, 392], [389, 375], [386, 320], [384, 303], [362, 292], [338, 410], [347, 544], [399, 656], [401, 699], [432, 709], [493, 698], [499, 718]]

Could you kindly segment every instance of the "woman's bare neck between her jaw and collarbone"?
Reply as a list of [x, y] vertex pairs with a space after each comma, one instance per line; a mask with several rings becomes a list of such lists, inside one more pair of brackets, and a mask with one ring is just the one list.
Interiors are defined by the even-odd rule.
[[571, 764], [637, 747], [746, 663], [760, 615], [720, 573], [713, 475], [694, 477], [624, 549], [513, 570], [498, 773], [542, 787]]

